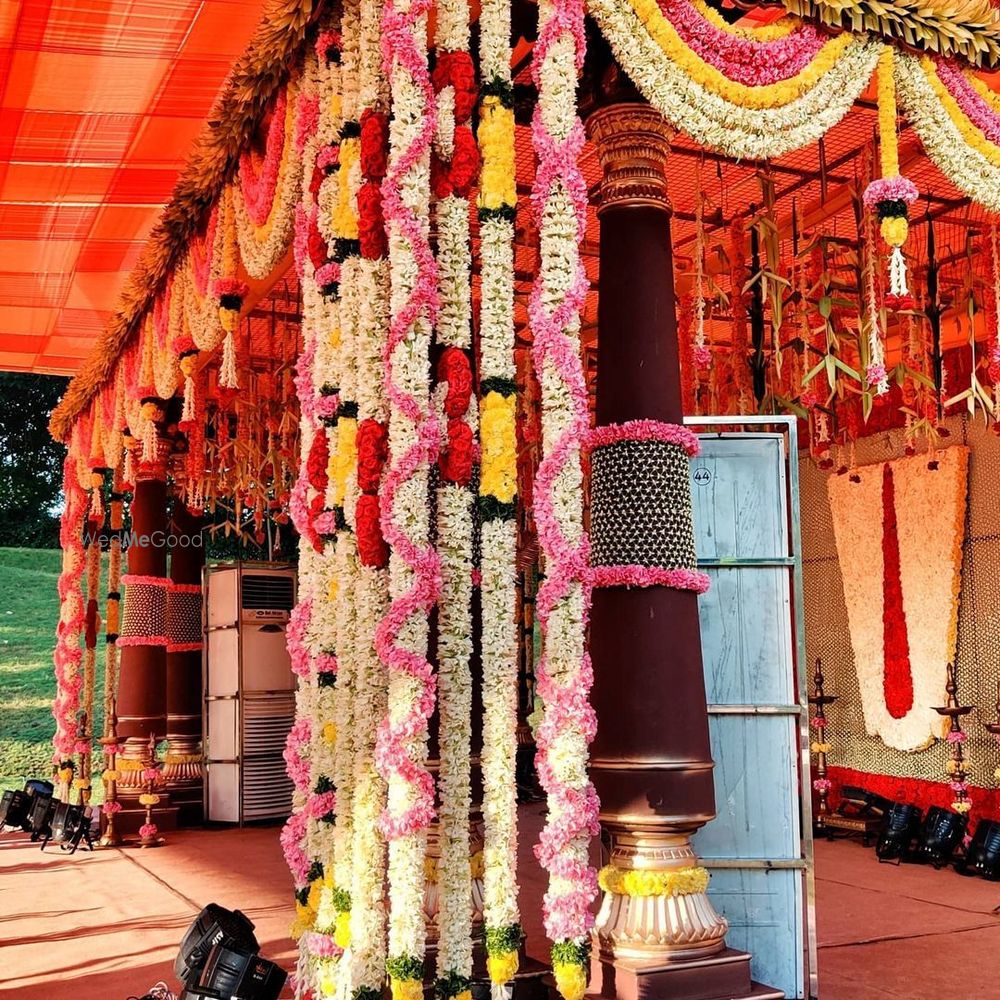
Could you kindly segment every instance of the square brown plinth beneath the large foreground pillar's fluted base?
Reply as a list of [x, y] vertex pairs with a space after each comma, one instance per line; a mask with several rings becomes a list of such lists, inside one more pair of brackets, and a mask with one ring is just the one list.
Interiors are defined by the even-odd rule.
[[750, 955], [726, 948], [709, 958], [666, 964], [595, 955], [588, 995], [606, 1000], [781, 1000], [785, 994], [754, 983]]

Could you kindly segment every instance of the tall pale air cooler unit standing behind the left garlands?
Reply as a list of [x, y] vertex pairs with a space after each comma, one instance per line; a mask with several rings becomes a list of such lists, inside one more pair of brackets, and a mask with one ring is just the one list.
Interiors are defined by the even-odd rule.
[[295, 720], [285, 628], [295, 606], [289, 566], [224, 563], [205, 570], [205, 817], [283, 818], [292, 783], [282, 752]]

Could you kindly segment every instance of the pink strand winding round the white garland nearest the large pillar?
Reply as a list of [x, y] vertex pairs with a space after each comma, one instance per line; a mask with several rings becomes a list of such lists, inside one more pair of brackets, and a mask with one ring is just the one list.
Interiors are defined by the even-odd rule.
[[[556, 0], [545, 23], [539, 26], [532, 65], [532, 75], [539, 89], [539, 101], [532, 121], [538, 169], [531, 197], [536, 218], [544, 228], [547, 203], [556, 186], [561, 185], [572, 199], [577, 240], [582, 243], [586, 233], [587, 192], [577, 158], [583, 148], [583, 125], [577, 118], [566, 138], [560, 140], [547, 131], [541, 113], [548, 97], [542, 83], [541, 67], [553, 43], [567, 33], [572, 36], [579, 71], [586, 44], [580, 0]], [[593, 683], [589, 655], [584, 653], [579, 669], [565, 682], [556, 680], [548, 672], [548, 626], [554, 607], [569, 595], [574, 584], [579, 584], [583, 592], [583, 620], [579, 624], [583, 630], [590, 606], [588, 539], [584, 534], [579, 542], [573, 542], [566, 536], [553, 502], [554, 486], [560, 472], [567, 463], [579, 461], [579, 452], [589, 431], [587, 389], [580, 357], [575, 345], [564, 333], [579, 315], [588, 288], [586, 271], [578, 255], [575, 264], [576, 275], [571, 286], [550, 313], [545, 304], [549, 291], [545, 287], [543, 261], [542, 273], [532, 288], [529, 306], [535, 371], [542, 372], [548, 366], [555, 369], [569, 393], [573, 411], [568, 425], [543, 457], [535, 482], [535, 519], [548, 568], [537, 598], [538, 618], [545, 638], [538, 664], [538, 690], [545, 703], [545, 716], [537, 732], [536, 763], [539, 779], [549, 797], [549, 818], [535, 853], [549, 872], [543, 917], [546, 932], [553, 941], [586, 939], [594, 922], [589, 907], [597, 894], [596, 872], [586, 863], [576, 860], [571, 852], [571, 848], [577, 846], [574, 842], [578, 844], [581, 838], [586, 839], [599, 832], [597, 793], [590, 782], [582, 789], [566, 785], [559, 779], [550, 760], [552, 747], [562, 733], [579, 731], [589, 743], [597, 729], [597, 718], [588, 701]], [[543, 406], [545, 402], [543, 399]], [[561, 882], [569, 887], [561, 887]]]

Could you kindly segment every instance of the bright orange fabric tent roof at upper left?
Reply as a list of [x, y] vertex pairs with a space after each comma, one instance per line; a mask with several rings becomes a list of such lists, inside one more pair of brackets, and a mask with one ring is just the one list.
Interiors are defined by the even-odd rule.
[[262, 6], [0, 4], [0, 369], [79, 368]]

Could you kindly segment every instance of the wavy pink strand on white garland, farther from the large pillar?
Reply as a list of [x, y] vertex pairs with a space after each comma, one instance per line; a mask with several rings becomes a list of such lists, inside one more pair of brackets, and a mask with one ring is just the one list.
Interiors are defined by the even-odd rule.
[[[403, 454], [392, 456], [381, 489], [382, 533], [394, 551], [413, 573], [410, 590], [397, 596], [375, 633], [375, 648], [388, 670], [411, 676], [421, 683], [420, 692], [408, 711], [395, 722], [384, 720], [379, 727], [375, 761], [382, 777], [388, 781], [395, 775], [413, 786], [411, 806], [404, 812], [383, 813], [383, 835], [394, 840], [427, 826], [434, 816], [434, 779], [413, 761], [407, 743], [426, 733], [434, 711], [433, 667], [425, 655], [411, 652], [399, 644], [399, 634], [406, 622], [415, 615], [426, 615], [434, 606], [441, 589], [441, 569], [437, 553], [429, 544], [413, 542], [396, 519], [396, 494], [421, 468], [435, 461], [438, 453], [439, 428], [426, 401], [408, 393], [397, 381], [393, 370], [393, 351], [403, 343], [413, 325], [423, 316], [433, 324], [438, 309], [437, 264], [427, 236], [416, 212], [403, 199], [403, 181], [428, 155], [437, 127], [434, 87], [427, 68], [426, 54], [417, 40], [417, 25], [430, 10], [430, 0], [415, 0], [406, 11], [400, 11], [389, 0], [382, 15], [382, 59], [387, 75], [402, 67], [411, 77], [424, 99], [423, 121], [413, 141], [393, 156], [382, 183], [383, 209], [386, 228], [407, 241], [416, 267], [417, 278], [409, 298], [396, 310], [389, 325], [389, 336], [383, 351], [386, 394], [393, 408], [392, 420], [405, 420], [414, 425], [417, 440]], [[419, 364], [420, 361], [418, 360]]]

